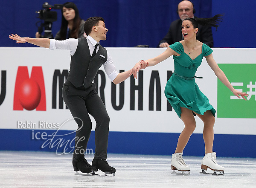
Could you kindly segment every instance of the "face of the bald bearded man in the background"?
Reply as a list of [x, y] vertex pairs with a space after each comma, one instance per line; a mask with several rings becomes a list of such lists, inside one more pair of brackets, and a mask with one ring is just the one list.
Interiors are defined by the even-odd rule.
[[185, 18], [194, 17], [192, 3], [187, 0], [180, 2], [178, 5], [178, 13], [179, 13], [180, 20], [182, 21]]

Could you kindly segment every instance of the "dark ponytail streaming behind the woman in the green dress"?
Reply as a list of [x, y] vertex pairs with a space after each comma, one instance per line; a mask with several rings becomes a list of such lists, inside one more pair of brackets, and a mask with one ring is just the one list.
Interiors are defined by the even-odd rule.
[[221, 22], [221, 20], [223, 20], [222, 16], [223, 16], [223, 14], [216, 14], [213, 17], [197, 18], [197, 19], [188, 17], [188, 18], [185, 18], [183, 21], [185, 21], [185, 20], [191, 21], [194, 28], [198, 28], [198, 24], [199, 24], [199, 25], [202, 25], [202, 26], [212, 26], [212, 27], [215, 27], [216, 30], [217, 30], [217, 28], [219, 26], [218, 22]]

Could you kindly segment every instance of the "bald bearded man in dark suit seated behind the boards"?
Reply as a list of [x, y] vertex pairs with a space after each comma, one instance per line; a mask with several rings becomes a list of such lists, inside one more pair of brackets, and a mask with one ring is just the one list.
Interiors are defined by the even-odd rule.
[[[187, 17], [195, 19], [197, 18], [194, 16], [194, 4], [188, 0], [183, 0], [178, 4], [177, 13], [179, 14], [180, 19], [175, 20], [171, 23], [168, 33], [162, 40], [160, 40], [158, 44], [161, 48], [169, 47], [171, 44], [183, 40], [183, 36], [181, 33], [182, 21]], [[196, 37], [197, 40], [207, 44], [207, 46], [209, 47], [213, 47], [212, 28], [209, 26], [199, 25], [198, 29], [199, 32]]]

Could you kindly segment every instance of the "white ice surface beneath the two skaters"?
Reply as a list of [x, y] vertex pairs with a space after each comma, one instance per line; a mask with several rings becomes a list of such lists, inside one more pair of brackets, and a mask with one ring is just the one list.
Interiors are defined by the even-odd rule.
[[[0, 188], [254, 188], [256, 159], [221, 158], [224, 176], [199, 174], [202, 157], [183, 156], [190, 175], [171, 174], [171, 156], [108, 154], [114, 177], [78, 176], [72, 154], [0, 151]], [[93, 155], [86, 155], [90, 163]], [[101, 171], [98, 171], [102, 173]], [[98, 173], [98, 174], [99, 174]], [[104, 174], [104, 173], [102, 173]]]

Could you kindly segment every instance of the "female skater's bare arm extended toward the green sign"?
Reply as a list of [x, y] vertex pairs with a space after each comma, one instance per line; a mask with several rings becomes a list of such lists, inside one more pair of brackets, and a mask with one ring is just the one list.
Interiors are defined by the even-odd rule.
[[[244, 98], [244, 96], [248, 96], [248, 94], [247, 93], [242, 93], [242, 92], [234, 89], [234, 87], [230, 84], [230, 81], [228, 81], [224, 72], [220, 69], [220, 67], [218, 67], [218, 64], [213, 59], [212, 54], [205, 56], [205, 58], [206, 58], [207, 63], [209, 64], [209, 66], [211, 67], [213, 72], [215, 73], [215, 75], [218, 77], [218, 79], [220, 79], [220, 81], [225, 86], [227, 86], [227, 88], [230, 89], [230, 91], [232, 91], [234, 93], [234, 95], [236, 95], [238, 98], [242, 97], [244, 100], [246, 100]], [[241, 95], [241, 97], [239, 95]]]

